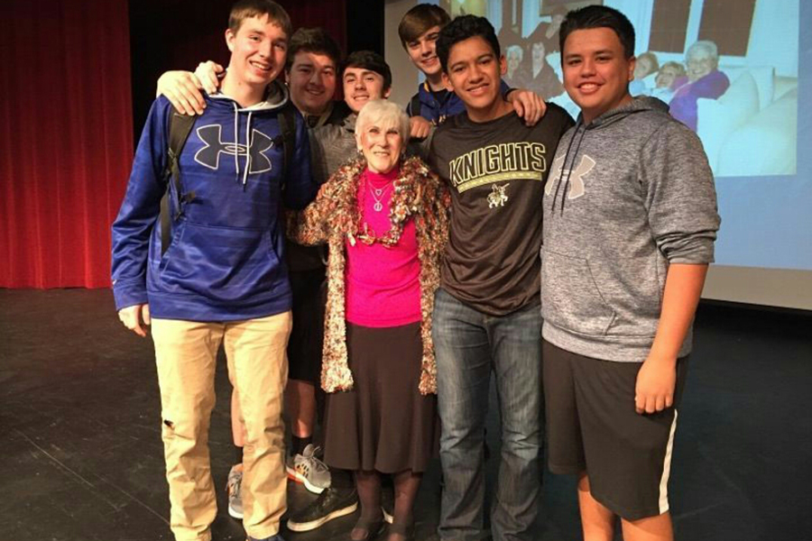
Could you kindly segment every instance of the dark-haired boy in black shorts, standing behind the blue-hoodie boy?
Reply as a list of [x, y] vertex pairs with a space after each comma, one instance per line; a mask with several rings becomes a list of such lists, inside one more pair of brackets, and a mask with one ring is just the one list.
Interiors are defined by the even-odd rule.
[[[341, 124], [349, 113], [344, 102], [336, 102], [340, 51], [336, 42], [321, 28], [300, 28], [293, 32], [285, 64], [285, 78], [291, 93], [291, 102], [304, 116], [310, 133], [311, 152], [316, 150], [313, 129], [331, 124]], [[187, 71], [171, 71], [161, 76], [158, 93], [170, 97], [173, 105], [195, 112], [204, 110], [204, 98], [200, 88], [209, 94], [217, 92], [220, 80], [217, 73], [222, 67], [214, 62], [202, 63], [192, 75]], [[316, 164], [315, 154], [311, 163]], [[311, 171], [319, 183], [327, 179]], [[330, 474], [313, 445], [313, 431], [317, 417], [317, 392], [321, 377], [321, 350], [324, 337], [325, 297], [322, 289], [325, 280], [326, 253], [324, 247], [300, 246], [286, 242], [287, 262], [290, 269], [293, 294], [293, 328], [288, 344], [290, 366], [288, 386], [285, 389], [285, 408], [291, 421], [291, 457], [288, 475], [303, 483], [309, 491], [321, 493], [330, 486]], [[243, 426], [240, 421], [239, 401], [232, 399], [232, 427], [237, 463], [228, 474], [228, 512], [234, 518], [242, 518], [240, 496]], [[341, 484], [341, 481], [337, 481]], [[352, 488], [352, 482], [347, 483]]]

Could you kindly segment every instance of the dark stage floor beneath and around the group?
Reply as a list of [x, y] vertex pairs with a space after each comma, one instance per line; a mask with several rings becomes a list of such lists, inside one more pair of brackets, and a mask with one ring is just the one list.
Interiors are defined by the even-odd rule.
[[[812, 317], [700, 307], [670, 500], [683, 541], [812, 536]], [[212, 418], [220, 509], [232, 458], [225, 366]], [[498, 452], [492, 401], [488, 437]], [[107, 290], [0, 290], [0, 541], [171, 539], [152, 343], [125, 331]], [[493, 459], [489, 477], [494, 478]], [[313, 498], [291, 486], [291, 508]], [[438, 518], [438, 463], [417, 503]], [[334, 539], [350, 516], [289, 541]], [[221, 510], [216, 540], [242, 540]], [[574, 480], [548, 475], [542, 541], [579, 539]]]

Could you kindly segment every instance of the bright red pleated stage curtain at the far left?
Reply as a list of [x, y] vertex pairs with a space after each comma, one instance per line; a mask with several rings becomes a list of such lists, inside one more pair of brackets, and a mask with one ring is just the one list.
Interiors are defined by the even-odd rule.
[[133, 160], [127, 3], [0, 14], [0, 287], [107, 287]]

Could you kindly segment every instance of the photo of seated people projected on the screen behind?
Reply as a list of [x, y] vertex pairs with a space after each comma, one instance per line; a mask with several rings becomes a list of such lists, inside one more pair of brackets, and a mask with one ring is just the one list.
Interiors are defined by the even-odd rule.
[[488, 17], [505, 81], [576, 116], [561, 84], [558, 26], [569, 9], [612, 6], [637, 32], [632, 95], [655, 96], [696, 131], [716, 177], [794, 175], [798, 163], [798, 0], [441, 0]]

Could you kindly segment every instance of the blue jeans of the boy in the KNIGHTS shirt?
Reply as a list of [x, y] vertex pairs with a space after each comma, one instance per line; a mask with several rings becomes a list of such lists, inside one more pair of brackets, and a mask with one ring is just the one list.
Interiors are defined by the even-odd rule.
[[484, 426], [494, 371], [502, 453], [491, 534], [494, 541], [531, 540], [543, 458], [540, 306], [488, 316], [438, 289], [432, 336], [445, 480], [439, 535], [466, 541], [486, 535]]

